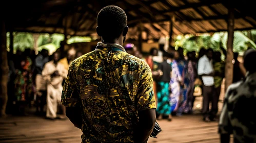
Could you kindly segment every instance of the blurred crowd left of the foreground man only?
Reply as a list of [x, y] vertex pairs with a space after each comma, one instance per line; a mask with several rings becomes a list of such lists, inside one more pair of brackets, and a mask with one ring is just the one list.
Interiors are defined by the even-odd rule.
[[82, 55], [81, 51], [76, 51], [74, 48], [66, 51], [65, 54], [61, 54], [58, 49], [52, 55], [49, 55], [46, 49], [37, 55], [30, 49], [25, 49], [24, 52], [17, 50], [16, 54], [8, 53], [6, 112], [26, 115], [25, 107], [29, 106], [36, 107], [38, 115], [46, 113], [47, 118], [65, 118], [65, 108], [61, 105], [62, 86], [69, 65]]

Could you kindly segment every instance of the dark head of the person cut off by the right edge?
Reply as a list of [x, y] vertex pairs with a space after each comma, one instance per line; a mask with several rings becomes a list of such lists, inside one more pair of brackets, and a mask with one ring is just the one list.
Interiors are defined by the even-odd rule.
[[253, 49], [249, 49], [244, 53], [244, 67], [250, 73], [254, 73], [256, 71], [256, 66], [254, 66], [254, 62], [256, 60], [256, 51]]

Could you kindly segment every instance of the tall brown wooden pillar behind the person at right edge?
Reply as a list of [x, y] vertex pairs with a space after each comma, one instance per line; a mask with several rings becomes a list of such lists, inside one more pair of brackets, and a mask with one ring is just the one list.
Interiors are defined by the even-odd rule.
[[231, 6], [231, 0], [228, 7], [228, 41], [227, 41], [227, 57], [225, 66], [225, 91], [233, 81], [233, 40], [234, 40], [234, 8]]

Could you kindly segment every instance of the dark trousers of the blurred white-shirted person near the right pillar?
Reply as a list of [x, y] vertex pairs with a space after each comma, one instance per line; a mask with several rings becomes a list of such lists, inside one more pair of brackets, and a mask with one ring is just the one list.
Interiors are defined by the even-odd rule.
[[[221, 92], [221, 86], [214, 88], [214, 86], [203, 85], [203, 109], [204, 117], [214, 118], [218, 112], [218, 102]], [[211, 110], [209, 109], [211, 103]]]

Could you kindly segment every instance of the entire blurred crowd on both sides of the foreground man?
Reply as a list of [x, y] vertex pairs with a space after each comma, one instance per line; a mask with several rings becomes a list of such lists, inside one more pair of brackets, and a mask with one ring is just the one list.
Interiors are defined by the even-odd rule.
[[[170, 47], [164, 50], [164, 44], [159, 44], [159, 49], [152, 48], [148, 55], [143, 55], [134, 44], [125, 46], [127, 53], [144, 60], [152, 70], [153, 88], [157, 102], [158, 119], [168, 118], [172, 115], [193, 113], [194, 100], [202, 94], [204, 97], [202, 112], [205, 121], [217, 120], [218, 101], [221, 91], [221, 83], [225, 76], [225, 62], [221, 59], [226, 51], [213, 52], [211, 49], [201, 48], [199, 53], [187, 52], [179, 47], [175, 50]], [[61, 105], [61, 90], [67, 76], [71, 62], [84, 53], [76, 51], [73, 47], [61, 54], [58, 49], [52, 55], [43, 49], [37, 55], [35, 51], [26, 49], [24, 52], [16, 51], [16, 54], [8, 53], [9, 81], [8, 81], [8, 105], [7, 113], [26, 115], [25, 107], [36, 107], [36, 113], [46, 115], [47, 118], [65, 118], [65, 108]], [[238, 61], [238, 53], [234, 53], [233, 82], [245, 77], [245, 69]], [[204, 84], [205, 71], [199, 68], [208, 68], [205, 65], [207, 57], [212, 66], [213, 83]], [[200, 63], [200, 59], [201, 62]], [[207, 59], [206, 59], [207, 60]], [[203, 73], [203, 74], [202, 74]], [[207, 91], [207, 92], [206, 92]], [[210, 96], [213, 97], [210, 98]], [[209, 103], [212, 109], [209, 110]], [[60, 115], [57, 115], [60, 113]], [[209, 117], [209, 118], [208, 118]]]

